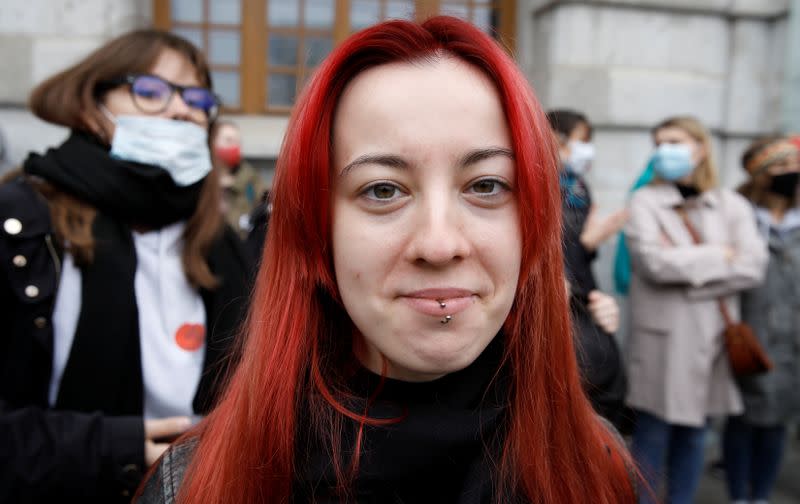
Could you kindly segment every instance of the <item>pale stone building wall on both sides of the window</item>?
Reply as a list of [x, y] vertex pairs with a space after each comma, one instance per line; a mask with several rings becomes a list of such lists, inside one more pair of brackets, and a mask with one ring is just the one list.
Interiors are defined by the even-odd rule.
[[[724, 183], [740, 180], [744, 146], [777, 131], [785, 109], [789, 3], [517, 0], [517, 58], [543, 104], [582, 110], [596, 125], [591, 183], [601, 208], [624, 202], [651, 150], [649, 128], [669, 115], [703, 120], [715, 133]], [[32, 87], [113, 36], [150, 26], [152, 4], [0, 2], [0, 130], [13, 162], [65, 134], [25, 110]], [[237, 120], [248, 154], [274, 158], [285, 118]]]

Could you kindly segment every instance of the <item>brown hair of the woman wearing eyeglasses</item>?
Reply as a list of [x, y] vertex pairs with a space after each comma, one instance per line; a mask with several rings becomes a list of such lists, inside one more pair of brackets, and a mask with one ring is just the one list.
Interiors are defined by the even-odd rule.
[[[197, 72], [200, 84], [211, 87], [206, 58], [191, 42], [168, 32], [138, 30], [115, 38], [37, 86], [29, 100], [31, 111], [44, 121], [92, 133], [109, 143], [108, 118], [98, 107], [109, 90], [104, 84], [150, 71], [166, 49], [185, 57]], [[40, 191], [50, 204], [58, 238], [68, 244], [76, 261], [90, 262], [94, 252], [91, 229], [97, 210], [55, 188], [44, 186]], [[183, 268], [189, 281], [198, 287], [211, 288], [217, 283], [205, 255], [223, 225], [219, 198], [219, 176], [212, 170], [183, 232]]]

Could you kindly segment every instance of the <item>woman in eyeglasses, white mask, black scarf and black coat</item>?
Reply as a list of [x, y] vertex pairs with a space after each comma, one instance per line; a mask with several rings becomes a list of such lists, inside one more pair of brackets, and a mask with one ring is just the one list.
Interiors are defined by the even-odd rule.
[[0, 185], [0, 501], [130, 500], [214, 403], [248, 293], [191, 43], [123, 35], [39, 85], [70, 129]]

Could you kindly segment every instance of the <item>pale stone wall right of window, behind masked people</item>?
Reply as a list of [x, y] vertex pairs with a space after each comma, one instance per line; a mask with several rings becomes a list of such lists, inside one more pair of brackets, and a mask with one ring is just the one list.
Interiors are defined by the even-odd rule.
[[[672, 115], [703, 121], [722, 183], [741, 181], [747, 144], [780, 130], [788, 11], [786, 0], [519, 0], [518, 60], [546, 108], [593, 121], [589, 182], [608, 212], [643, 169], [650, 128]], [[614, 245], [596, 265], [608, 290]]]

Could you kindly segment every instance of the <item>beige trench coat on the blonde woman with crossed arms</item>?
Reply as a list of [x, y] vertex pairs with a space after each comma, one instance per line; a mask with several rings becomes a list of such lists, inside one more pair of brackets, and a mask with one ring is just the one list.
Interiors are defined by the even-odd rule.
[[[752, 208], [737, 193], [715, 189], [687, 203], [702, 245], [675, 210], [682, 203], [670, 184], [644, 187], [630, 202], [627, 402], [669, 423], [699, 427], [707, 416], [743, 409], [716, 300], [724, 297], [738, 320], [738, 294], [762, 281], [768, 255]], [[726, 247], [735, 251], [732, 261]]]

